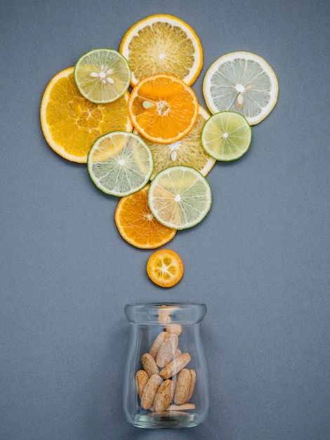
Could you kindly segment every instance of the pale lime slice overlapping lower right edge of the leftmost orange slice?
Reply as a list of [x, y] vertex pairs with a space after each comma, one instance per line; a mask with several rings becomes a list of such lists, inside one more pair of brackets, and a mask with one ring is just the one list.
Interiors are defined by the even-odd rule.
[[136, 134], [112, 131], [95, 141], [87, 168], [100, 190], [122, 197], [147, 184], [153, 169], [152, 153]]

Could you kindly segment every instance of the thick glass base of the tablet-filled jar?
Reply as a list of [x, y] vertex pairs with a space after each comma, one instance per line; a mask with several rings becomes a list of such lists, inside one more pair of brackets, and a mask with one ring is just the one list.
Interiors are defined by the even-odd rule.
[[188, 428], [198, 425], [196, 413], [183, 411], [163, 411], [161, 413], [139, 414], [133, 420], [133, 425], [140, 428]]

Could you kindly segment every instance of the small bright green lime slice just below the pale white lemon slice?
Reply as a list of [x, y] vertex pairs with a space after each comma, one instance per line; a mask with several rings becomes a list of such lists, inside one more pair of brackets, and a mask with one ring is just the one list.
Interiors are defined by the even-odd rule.
[[251, 143], [252, 130], [246, 118], [236, 112], [219, 112], [204, 124], [202, 145], [216, 160], [235, 160]]

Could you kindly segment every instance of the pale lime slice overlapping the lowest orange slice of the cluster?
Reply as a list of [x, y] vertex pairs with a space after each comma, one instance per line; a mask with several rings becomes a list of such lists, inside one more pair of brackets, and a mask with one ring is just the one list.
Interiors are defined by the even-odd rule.
[[148, 192], [150, 211], [159, 223], [173, 229], [199, 224], [211, 208], [209, 182], [192, 167], [176, 165], [163, 169]]

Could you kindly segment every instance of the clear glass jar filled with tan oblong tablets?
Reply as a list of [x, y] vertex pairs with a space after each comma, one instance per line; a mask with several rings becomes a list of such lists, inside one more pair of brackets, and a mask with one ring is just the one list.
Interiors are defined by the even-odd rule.
[[209, 412], [201, 325], [205, 304], [128, 304], [124, 414], [136, 427], [179, 428]]

